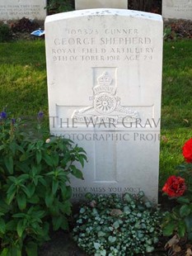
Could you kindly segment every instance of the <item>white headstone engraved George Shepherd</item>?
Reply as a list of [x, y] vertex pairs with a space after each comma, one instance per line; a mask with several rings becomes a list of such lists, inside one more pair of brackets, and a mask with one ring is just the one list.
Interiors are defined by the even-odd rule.
[[162, 17], [92, 9], [45, 20], [49, 125], [87, 151], [87, 192], [137, 194], [157, 202]]

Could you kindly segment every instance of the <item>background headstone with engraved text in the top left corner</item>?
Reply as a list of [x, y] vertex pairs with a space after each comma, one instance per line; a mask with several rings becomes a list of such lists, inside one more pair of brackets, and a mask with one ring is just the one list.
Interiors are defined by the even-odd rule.
[[0, 20], [20, 20], [26, 17], [44, 21], [46, 17], [46, 0], [1, 0]]

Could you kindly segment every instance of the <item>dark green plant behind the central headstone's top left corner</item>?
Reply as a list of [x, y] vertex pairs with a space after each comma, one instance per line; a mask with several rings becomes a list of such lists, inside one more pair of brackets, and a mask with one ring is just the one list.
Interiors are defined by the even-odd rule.
[[49, 0], [47, 10], [49, 14], [73, 11], [72, 0]]

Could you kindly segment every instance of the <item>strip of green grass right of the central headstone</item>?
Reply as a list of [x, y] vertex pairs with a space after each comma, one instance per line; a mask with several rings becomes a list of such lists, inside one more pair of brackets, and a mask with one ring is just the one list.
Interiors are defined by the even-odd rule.
[[182, 146], [192, 137], [192, 47], [190, 40], [164, 43], [160, 187], [183, 162]]

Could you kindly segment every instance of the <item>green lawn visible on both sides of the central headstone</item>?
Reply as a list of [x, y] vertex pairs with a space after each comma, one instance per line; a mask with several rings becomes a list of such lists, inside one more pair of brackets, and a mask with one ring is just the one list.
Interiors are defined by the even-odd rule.
[[[1, 43], [0, 56], [0, 110], [7, 106], [12, 116], [43, 110], [48, 116], [44, 40]], [[192, 137], [191, 95], [191, 41], [165, 42], [160, 187], [183, 161], [182, 145]]]

